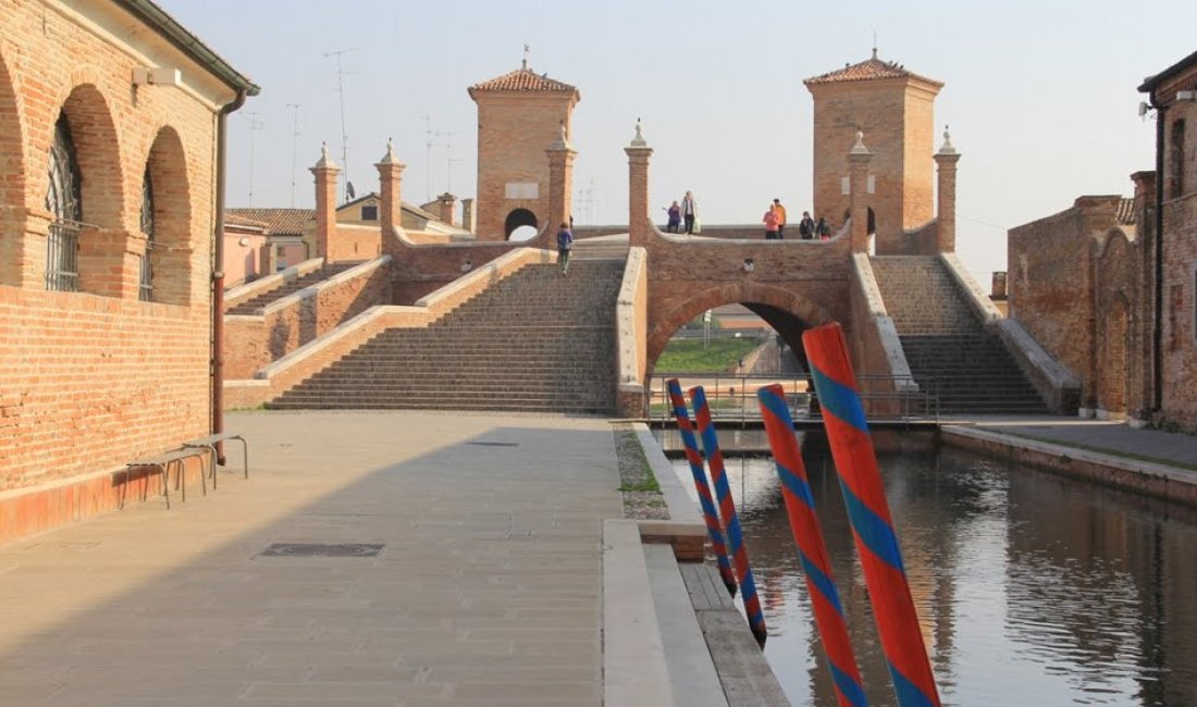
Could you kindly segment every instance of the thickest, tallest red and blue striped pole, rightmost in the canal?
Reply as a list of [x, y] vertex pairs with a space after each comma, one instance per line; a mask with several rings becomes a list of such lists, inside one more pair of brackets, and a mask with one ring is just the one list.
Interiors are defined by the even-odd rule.
[[802, 335], [802, 343], [898, 705], [938, 707], [940, 694], [906, 581], [844, 330], [837, 323], [816, 327]]

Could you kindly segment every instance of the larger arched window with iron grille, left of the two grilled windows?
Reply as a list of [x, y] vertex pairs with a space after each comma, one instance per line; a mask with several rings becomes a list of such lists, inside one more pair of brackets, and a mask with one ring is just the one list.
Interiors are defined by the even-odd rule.
[[50, 184], [45, 190], [45, 211], [54, 217], [45, 240], [45, 288], [79, 291], [79, 221], [83, 220], [79, 161], [71, 123], [59, 114], [50, 146]]

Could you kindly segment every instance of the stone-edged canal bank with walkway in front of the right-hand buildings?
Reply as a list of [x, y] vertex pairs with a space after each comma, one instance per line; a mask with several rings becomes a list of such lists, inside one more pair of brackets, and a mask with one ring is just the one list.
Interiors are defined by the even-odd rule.
[[1197, 506], [1197, 437], [1087, 420], [977, 420], [940, 441], [1086, 481]]

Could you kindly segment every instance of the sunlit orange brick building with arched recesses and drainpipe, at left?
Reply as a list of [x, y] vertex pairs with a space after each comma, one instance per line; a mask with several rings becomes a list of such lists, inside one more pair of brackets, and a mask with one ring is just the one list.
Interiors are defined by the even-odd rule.
[[0, 538], [211, 429], [223, 118], [256, 93], [148, 0], [0, 1]]

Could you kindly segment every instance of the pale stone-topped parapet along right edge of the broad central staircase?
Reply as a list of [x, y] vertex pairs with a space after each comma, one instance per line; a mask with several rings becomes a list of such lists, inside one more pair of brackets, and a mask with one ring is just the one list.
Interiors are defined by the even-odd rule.
[[648, 370], [649, 323], [648, 251], [627, 251], [624, 280], [615, 304], [615, 360], [619, 371], [619, 409], [627, 418], [644, 412], [644, 376]]

